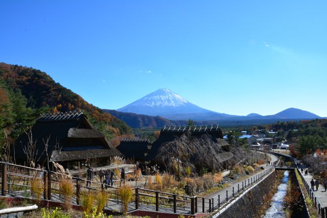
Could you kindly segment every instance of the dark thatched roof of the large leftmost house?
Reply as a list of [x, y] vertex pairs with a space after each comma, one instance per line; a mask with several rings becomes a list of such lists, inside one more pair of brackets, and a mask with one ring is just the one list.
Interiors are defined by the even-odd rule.
[[[111, 146], [106, 137], [88, 122], [87, 117], [80, 111], [42, 114], [27, 132], [29, 135], [26, 133], [19, 135], [15, 141], [14, 149], [11, 149], [11, 155], [15, 155], [17, 162], [26, 161], [23, 148], [29, 143], [29, 136], [35, 143], [35, 154], [41, 164], [46, 161], [44, 142], [48, 139], [49, 153], [61, 150], [60, 153], [65, 152], [63, 153], [65, 158], [61, 159], [65, 160], [76, 160], [76, 157], [74, 157], [75, 150], [78, 150], [79, 158], [86, 159], [92, 150], [89, 148], [92, 147], [95, 149], [100, 147], [105, 150], [100, 156], [121, 155], [118, 150]], [[69, 152], [72, 155], [68, 155]]]

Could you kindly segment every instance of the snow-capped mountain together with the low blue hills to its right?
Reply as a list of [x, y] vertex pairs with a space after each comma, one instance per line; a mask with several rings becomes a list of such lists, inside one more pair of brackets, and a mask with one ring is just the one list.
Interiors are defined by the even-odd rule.
[[[133, 103], [122, 107], [117, 112], [128, 112], [150, 116], [160, 116], [172, 120], [196, 121], [208, 120], [254, 120], [254, 119], [314, 119], [320, 116], [296, 108], [288, 108], [273, 115], [250, 113], [246, 116], [230, 115], [201, 108], [190, 103], [170, 89], [158, 89]], [[123, 119], [124, 120], [124, 119]]]

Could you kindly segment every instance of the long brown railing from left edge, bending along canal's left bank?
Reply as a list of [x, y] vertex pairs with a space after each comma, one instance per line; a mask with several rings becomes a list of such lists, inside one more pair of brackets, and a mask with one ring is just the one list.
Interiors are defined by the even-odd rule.
[[[274, 162], [274, 164], [276, 163], [277, 161]], [[2, 182], [0, 185], [3, 196], [6, 196], [8, 193], [15, 197], [32, 197], [31, 181], [32, 179], [36, 179], [42, 181], [44, 187], [42, 198], [44, 200], [64, 202], [63, 193], [60, 190], [59, 178], [66, 177], [67, 175], [7, 162], [0, 162], [0, 164], [2, 166]], [[228, 203], [230, 199], [264, 179], [265, 176], [273, 170], [274, 167], [270, 167], [255, 176], [251, 176], [242, 182], [242, 186], [239, 184], [237, 188], [231, 187], [226, 190], [225, 195], [218, 195], [212, 199], [175, 195], [173, 193], [145, 188], [135, 188], [133, 189], [134, 201], [129, 203], [128, 210], [145, 209], [179, 214], [213, 212], [214, 209], [222, 207], [224, 204]], [[112, 186], [106, 187], [102, 183], [88, 181], [83, 178], [71, 178], [74, 184], [72, 204], [79, 205], [81, 203], [81, 196], [85, 195], [85, 192], [105, 191], [109, 196], [105, 209], [120, 211], [123, 207], [123, 202], [120, 200], [119, 196], [119, 188]], [[91, 185], [87, 185], [88, 182], [91, 183]]]

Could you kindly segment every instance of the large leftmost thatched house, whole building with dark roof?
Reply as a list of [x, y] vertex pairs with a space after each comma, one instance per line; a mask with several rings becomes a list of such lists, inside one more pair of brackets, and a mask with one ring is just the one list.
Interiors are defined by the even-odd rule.
[[[31, 160], [27, 156], [35, 156], [34, 162], [45, 166], [49, 159], [76, 168], [86, 162], [108, 165], [110, 157], [121, 155], [81, 111], [42, 114], [28, 133], [21, 134], [11, 149], [16, 162], [27, 163]], [[31, 143], [35, 144], [33, 155], [26, 155], [24, 151]], [[48, 144], [48, 155], [45, 144]]]

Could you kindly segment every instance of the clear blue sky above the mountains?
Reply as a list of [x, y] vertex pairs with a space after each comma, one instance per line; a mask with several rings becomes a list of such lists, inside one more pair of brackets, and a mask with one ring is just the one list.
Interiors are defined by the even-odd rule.
[[170, 88], [206, 109], [327, 116], [326, 1], [1, 1], [0, 61], [118, 109]]

